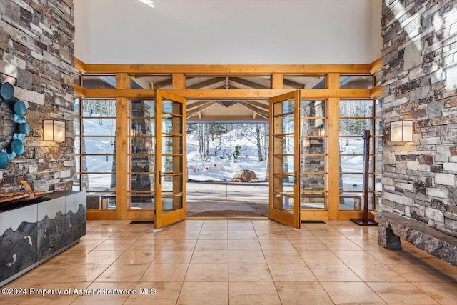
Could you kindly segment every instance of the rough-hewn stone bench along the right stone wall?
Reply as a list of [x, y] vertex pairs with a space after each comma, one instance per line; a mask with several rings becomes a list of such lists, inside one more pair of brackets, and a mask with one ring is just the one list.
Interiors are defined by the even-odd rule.
[[390, 212], [379, 212], [374, 220], [378, 223], [378, 242], [384, 248], [399, 250], [400, 239], [404, 239], [418, 249], [457, 266], [456, 237]]

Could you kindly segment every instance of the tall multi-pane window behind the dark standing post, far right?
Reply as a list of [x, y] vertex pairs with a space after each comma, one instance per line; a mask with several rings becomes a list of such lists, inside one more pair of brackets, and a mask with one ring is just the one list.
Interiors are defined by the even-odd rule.
[[368, 207], [381, 199], [381, 100], [340, 101], [340, 209], [361, 209], [365, 130], [371, 133], [368, 169]]

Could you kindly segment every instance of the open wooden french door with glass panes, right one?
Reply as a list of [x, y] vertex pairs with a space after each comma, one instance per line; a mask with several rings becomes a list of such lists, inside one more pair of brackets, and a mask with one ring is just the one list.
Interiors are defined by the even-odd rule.
[[300, 91], [270, 99], [270, 219], [300, 228]]

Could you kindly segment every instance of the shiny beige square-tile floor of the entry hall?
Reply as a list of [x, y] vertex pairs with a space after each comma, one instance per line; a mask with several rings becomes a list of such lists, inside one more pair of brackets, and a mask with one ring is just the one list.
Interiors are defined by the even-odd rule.
[[28, 295], [0, 295], [0, 304], [457, 304], [457, 268], [406, 242], [403, 249], [381, 248], [376, 227], [351, 221], [297, 230], [187, 220], [155, 232], [88, 221], [79, 244], [6, 285]]

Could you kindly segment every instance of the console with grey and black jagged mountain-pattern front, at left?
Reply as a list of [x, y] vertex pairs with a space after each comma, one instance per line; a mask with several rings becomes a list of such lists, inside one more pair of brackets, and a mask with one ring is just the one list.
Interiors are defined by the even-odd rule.
[[0, 286], [86, 235], [86, 192], [54, 193], [0, 205]]

